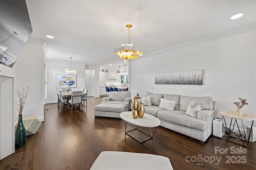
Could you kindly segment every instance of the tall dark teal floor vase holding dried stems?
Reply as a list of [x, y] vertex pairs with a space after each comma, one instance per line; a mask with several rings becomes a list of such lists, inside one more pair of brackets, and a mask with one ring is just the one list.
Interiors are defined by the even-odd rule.
[[28, 94], [31, 92], [29, 87], [24, 88], [23, 87], [23, 91], [20, 92], [19, 90], [17, 90], [15, 92], [15, 97], [16, 100], [18, 99], [18, 101], [15, 101], [15, 107], [19, 113], [19, 118], [18, 118], [18, 125], [15, 131], [15, 147], [23, 147], [24, 145], [26, 145], [26, 132], [25, 132], [25, 127], [23, 125], [23, 121], [22, 121], [22, 111], [24, 109], [24, 106], [26, 105], [26, 98], [28, 97]]

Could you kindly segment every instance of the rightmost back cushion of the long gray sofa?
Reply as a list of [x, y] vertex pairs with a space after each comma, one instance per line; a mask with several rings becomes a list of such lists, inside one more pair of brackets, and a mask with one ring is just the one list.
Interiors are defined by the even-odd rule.
[[201, 110], [212, 110], [213, 109], [213, 100], [212, 97], [190, 97], [190, 96], [181, 96], [180, 97], [180, 106], [179, 110], [186, 111], [190, 102], [193, 101], [196, 105], [201, 105]]

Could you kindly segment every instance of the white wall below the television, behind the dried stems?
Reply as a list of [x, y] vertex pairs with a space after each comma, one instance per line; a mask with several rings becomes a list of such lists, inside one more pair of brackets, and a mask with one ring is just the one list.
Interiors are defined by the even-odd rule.
[[[14, 75], [14, 90], [22, 90], [30, 87], [23, 117], [36, 116], [44, 121], [44, 59], [43, 45], [26, 43], [13, 68], [0, 66], [0, 70], [6, 74]], [[16, 111], [16, 109], [15, 109]], [[16, 111], [15, 119], [18, 120]]]

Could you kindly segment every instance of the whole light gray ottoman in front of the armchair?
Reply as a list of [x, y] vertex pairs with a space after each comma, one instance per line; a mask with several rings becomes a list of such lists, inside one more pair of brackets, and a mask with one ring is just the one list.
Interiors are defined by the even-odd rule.
[[98, 104], [94, 106], [94, 116], [121, 118], [120, 113], [125, 111], [124, 104]]

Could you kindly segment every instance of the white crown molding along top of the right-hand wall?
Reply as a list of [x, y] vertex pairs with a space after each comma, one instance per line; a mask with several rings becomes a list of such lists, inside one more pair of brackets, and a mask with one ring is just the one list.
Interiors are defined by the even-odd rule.
[[[207, 43], [207, 42], [214, 41], [214, 40], [217, 40], [217, 39], [222, 39], [222, 38], [230, 37], [230, 36], [233, 36], [233, 35], [238, 35], [238, 34], [246, 33], [246, 32], [249, 32], [249, 31], [254, 31], [254, 30], [256, 30], [256, 23], [251, 23], [251, 24], [248, 24], [248, 25], [244, 25], [242, 27], [237, 27], [237, 28], [234, 28], [234, 29], [230, 29], [228, 31], [222, 31], [220, 33], [212, 34], [212, 35], [209, 35], [209, 36], [206, 36], [206, 37], [202, 37], [202, 38], [199, 38], [199, 39], [194, 39], [192, 41], [188, 41], [188, 42], [185, 42], [185, 43], [180, 43], [178, 45], [173, 45], [173, 46], [170, 46], [170, 47], [166, 47], [164, 49], [159, 49], [159, 50], [156, 50], [156, 51], [152, 51], [150, 53], [144, 54], [143, 56], [152, 55], [154, 53], [160, 53], [160, 52], [163, 52], [163, 51], [174, 51], [174, 50], [182, 49], [182, 48], [189, 47], [189, 46], [192, 46], [192, 45], [197, 45], [197, 44], [200, 44], [200, 43]], [[140, 58], [140, 57], [138, 57], [138, 58]]]

